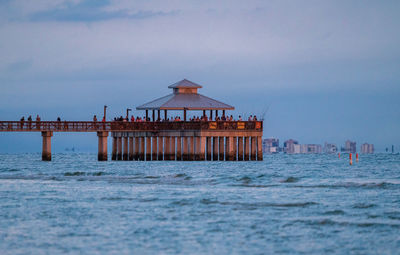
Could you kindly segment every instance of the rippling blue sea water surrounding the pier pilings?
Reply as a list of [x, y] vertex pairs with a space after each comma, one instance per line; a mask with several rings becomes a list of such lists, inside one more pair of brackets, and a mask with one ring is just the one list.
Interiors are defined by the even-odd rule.
[[399, 254], [400, 156], [0, 155], [1, 254]]

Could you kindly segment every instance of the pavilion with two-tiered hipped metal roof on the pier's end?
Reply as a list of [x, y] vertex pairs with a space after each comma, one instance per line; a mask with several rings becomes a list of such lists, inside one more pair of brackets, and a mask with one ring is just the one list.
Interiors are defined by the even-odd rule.
[[155, 111], [158, 112], [158, 119], [160, 119], [160, 111], [164, 110], [164, 119], [167, 119], [168, 110], [182, 110], [183, 120], [186, 121], [187, 111], [203, 111], [203, 116], [206, 115], [206, 110], [210, 111], [210, 120], [213, 118], [213, 110], [215, 116], [218, 116], [218, 110], [222, 110], [222, 115], [225, 115], [225, 110], [234, 110], [231, 105], [222, 103], [215, 99], [203, 96], [197, 92], [201, 85], [183, 79], [174, 83], [168, 88], [173, 89], [173, 93], [164, 97], [160, 97], [151, 102], [145, 103], [136, 107], [136, 110], [146, 110], [146, 119], [148, 118], [148, 111], [153, 111], [153, 121], [155, 121]]

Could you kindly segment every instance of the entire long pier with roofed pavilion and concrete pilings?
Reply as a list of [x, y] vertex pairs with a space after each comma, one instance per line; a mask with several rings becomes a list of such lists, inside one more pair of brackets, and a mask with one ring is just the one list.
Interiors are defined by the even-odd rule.
[[[263, 160], [262, 121], [225, 120], [225, 111], [234, 107], [198, 94], [197, 89], [201, 86], [188, 80], [169, 88], [173, 89], [172, 94], [136, 108], [145, 111], [143, 122], [129, 119], [107, 122], [0, 121], [0, 132], [40, 132], [43, 161], [51, 160], [51, 139], [57, 132], [96, 132], [99, 161], [108, 160], [109, 136], [112, 160]], [[164, 111], [163, 120], [161, 111]], [[168, 111], [182, 111], [183, 120], [170, 120]], [[201, 120], [187, 120], [188, 111], [200, 111]], [[149, 112], [152, 118], [149, 118]]]

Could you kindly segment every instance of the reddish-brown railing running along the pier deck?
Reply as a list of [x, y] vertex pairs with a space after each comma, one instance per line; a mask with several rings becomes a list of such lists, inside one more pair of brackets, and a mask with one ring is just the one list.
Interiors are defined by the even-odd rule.
[[0, 121], [0, 132], [96, 132], [162, 130], [262, 130], [262, 121]]

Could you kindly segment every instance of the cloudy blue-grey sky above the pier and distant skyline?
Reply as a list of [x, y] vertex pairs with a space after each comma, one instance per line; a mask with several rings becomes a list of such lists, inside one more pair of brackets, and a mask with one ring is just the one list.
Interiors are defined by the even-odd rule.
[[[400, 150], [400, 1], [2, 0], [0, 120], [91, 120], [181, 79], [264, 119], [264, 137]], [[142, 112], [133, 112], [143, 115]], [[53, 150], [96, 152], [95, 134]], [[40, 152], [0, 133], [0, 152]]]

